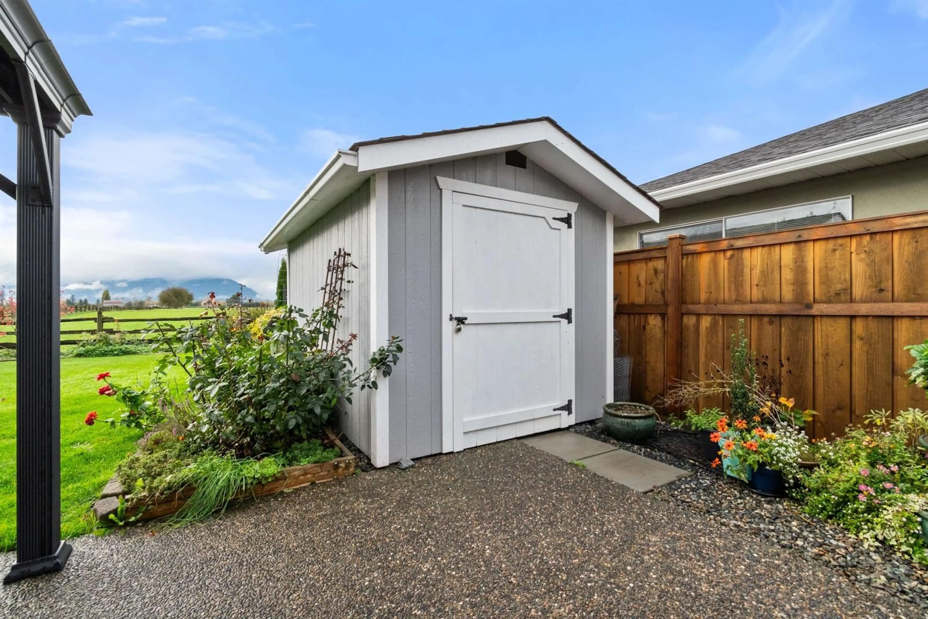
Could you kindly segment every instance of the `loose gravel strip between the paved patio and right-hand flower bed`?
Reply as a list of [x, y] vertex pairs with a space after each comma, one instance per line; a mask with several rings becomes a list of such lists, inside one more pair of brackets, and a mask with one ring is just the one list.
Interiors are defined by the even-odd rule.
[[741, 482], [725, 478], [702, 459], [696, 436], [690, 432], [661, 424], [655, 440], [647, 445], [631, 445], [612, 439], [603, 432], [599, 421], [578, 424], [572, 430], [694, 473], [658, 488], [651, 493], [655, 498], [701, 514], [728, 531], [743, 531], [780, 548], [789, 548], [794, 554], [827, 565], [850, 581], [912, 602], [928, 615], [928, 572], [924, 566], [896, 555], [889, 548], [863, 548], [842, 527], [807, 516], [794, 501], [757, 496]]

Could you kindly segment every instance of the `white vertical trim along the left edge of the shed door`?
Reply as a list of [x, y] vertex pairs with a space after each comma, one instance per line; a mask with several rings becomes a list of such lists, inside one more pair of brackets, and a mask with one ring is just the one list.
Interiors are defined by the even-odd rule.
[[453, 221], [454, 217], [454, 192], [447, 187], [442, 187], [442, 181], [447, 179], [438, 178], [438, 186], [442, 188], [442, 452], [460, 451], [464, 445], [455, 445], [455, 419], [454, 419], [454, 350], [452, 348], [454, 338], [454, 323], [445, 320], [445, 316], [451, 316], [454, 313], [452, 306], [452, 264], [454, 235]]

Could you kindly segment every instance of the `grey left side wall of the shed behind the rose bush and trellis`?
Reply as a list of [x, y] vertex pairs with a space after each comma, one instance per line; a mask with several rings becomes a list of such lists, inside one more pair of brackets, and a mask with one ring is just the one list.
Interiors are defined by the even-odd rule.
[[[345, 273], [344, 311], [336, 337], [347, 339], [349, 334], [357, 334], [351, 360], [354, 368], [358, 369], [367, 368], [370, 356], [370, 183], [367, 180], [355, 189], [299, 237], [291, 240], [287, 247], [288, 301], [307, 314], [322, 304], [320, 289], [326, 282], [326, 269], [332, 254], [339, 248], [351, 253], [351, 262], [357, 268], [350, 268]], [[354, 393], [352, 404], [342, 402], [339, 406], [342, 410], [339, 419], [342, 432], [365, 453], [370, 453], [369, 393]]]

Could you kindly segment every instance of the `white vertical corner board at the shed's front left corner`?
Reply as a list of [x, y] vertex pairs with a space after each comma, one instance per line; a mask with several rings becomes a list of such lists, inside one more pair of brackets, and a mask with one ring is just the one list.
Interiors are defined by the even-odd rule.
[[[390, 338], [389, 269], [387, 253], [387, 173], [370, 179], [368, 206], [370, 256], [370, 352]], [[370, 463], [390, 464], [390, 379], [380, 376], [370, 394]]]

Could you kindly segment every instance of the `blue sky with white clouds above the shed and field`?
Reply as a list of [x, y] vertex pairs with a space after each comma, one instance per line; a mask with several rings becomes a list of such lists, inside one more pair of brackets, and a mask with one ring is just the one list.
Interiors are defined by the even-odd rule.
[[32, 6], [95, 114], [62, 144], [63, 283], [270, 294], [258, 242], [355, 139], [549, 115], [643, 183], [928, 87], [928, 0]]

